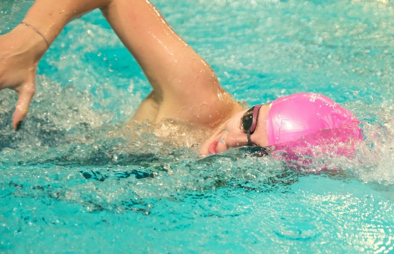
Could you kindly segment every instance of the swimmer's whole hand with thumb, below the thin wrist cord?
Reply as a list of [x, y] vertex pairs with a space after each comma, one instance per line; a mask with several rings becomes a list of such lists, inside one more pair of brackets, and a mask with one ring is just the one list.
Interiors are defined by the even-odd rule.
[[18, 93], [12, 121], [14, 130], [19, 129], [28, 113], [35, 93], [37, 65], [45, 51], [43, 38], [23, 25], [0, 35], [0, 90], [9, 88]]

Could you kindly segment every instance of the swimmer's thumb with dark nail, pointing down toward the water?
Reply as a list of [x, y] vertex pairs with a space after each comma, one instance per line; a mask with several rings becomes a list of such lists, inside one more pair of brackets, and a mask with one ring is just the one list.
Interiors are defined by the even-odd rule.
[[16, 89], [18, 93], [18, 102], [14, 111], [14, 117], [12, 121], [12, 126], [16, 131], [19, 130], [20, 124], [22, 124], [22, 121], [24, 120], [29, 111], [30, 102], [35, 93], [34, 81], [35, 80], [33, 78], [32, 80], [23, 83], [20, 89]]

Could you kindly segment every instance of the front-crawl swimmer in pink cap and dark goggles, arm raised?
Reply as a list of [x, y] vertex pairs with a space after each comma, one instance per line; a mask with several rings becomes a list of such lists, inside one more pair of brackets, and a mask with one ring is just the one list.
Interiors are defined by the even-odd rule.
[[[96, 8], [153, 88], [132, 119], [152, 123], [177, 119], [206, 129], [210, 137], [201, 146], [201, 156], [232, 147], [279, 145], [358, 123], [348, 110], [316, 93], [290, 95], [244, 109], [149, 0], [36, 0], [22, 22], [0, 36], [0, 89], [13, 89], [19, 96], [12, 123], [15, 130], [28, 113], [41, 57], [68, 22]], [[362, 137], [358, 128], [354, 133]]]

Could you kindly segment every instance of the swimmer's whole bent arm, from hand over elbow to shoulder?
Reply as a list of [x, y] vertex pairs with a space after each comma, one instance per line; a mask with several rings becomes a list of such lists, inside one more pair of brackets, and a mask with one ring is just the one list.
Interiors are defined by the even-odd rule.
[[[178, 111], [173, 117], [188, 121], [195, 118], [196, 115], [190, 114], [186, 106], [197, 107], [199, 116], [207, 118], [200, 121], [208, 123], [208, 115], [211, 117], [213, 112], [223, 117], [225, 110], [221, 108], [233, 103], [231, 96], [221, 88], [210, 66], [172, 30], [148, 0], [37, 0], [24, 21], [52, 43], [67, 22], [95, 8], [102, 10], [113, 30], [138, 61], [154, 88], [154, 100], [160, 104], [171, 104], [169, 107], [164, 105], [164, 109], [169, 109], [167, 111], [186, 108], [184, 115]], [[24, 61], [28, 67], [22, 69], [26, 73], [19, 78], [12, 76], [12, 72], [6, 74], [4, 71], [9, 65], [17, 64], [18, 57], [15, 55], [21, 55], [15, 52], [15, 48], [5, 45], [9, 39], [4, 36], [30, 41], [27, 46], [19, 45], [20, 51], [30, 52], [28, 56], [31, 58]], [[34, 39], [28, 39], [30, 37]], [[7, 49], [11, 56], [4, 54]], [[35, 69], [45, 50], [46, 44], [40, 35], [24, 25], [0, 37], [0, 60], [3, 60], [0, 61], [0, 88], [12, 88], [19, 93], [14, 128], [27, 114], [34, 93]], [[201, 112], [198, 107], [208, 109]], [[172, 117], [169, 112], [164, 115]]]

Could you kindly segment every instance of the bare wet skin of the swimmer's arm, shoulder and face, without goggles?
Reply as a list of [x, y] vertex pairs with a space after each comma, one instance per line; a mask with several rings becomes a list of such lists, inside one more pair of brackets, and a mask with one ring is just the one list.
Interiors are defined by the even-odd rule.
[[[201, 156], [247, 145], [247, 135], [240, 128], [245, 113], [242, 105], [221, 87], [214, 70], [173, 31], [149, 0], [36, 0], [23, 19], [34, 29], [20, 24], [0, 36], [0, 90], [11, 88], [19, 93], [15, 130], [34, 95], [35, 70], [47, 49], [45, 41], [52, 43], [67, 22], [96, 8], [101, 9], [154, 90], [132, 120], [160, 123], [177, 119], [180, 125], [186, 122], [209, 133], [220, 126], [202, 146]], [[268, 146], [268, 110], [269, 106], [260, 109], [251, 135], [259, 146]]]

